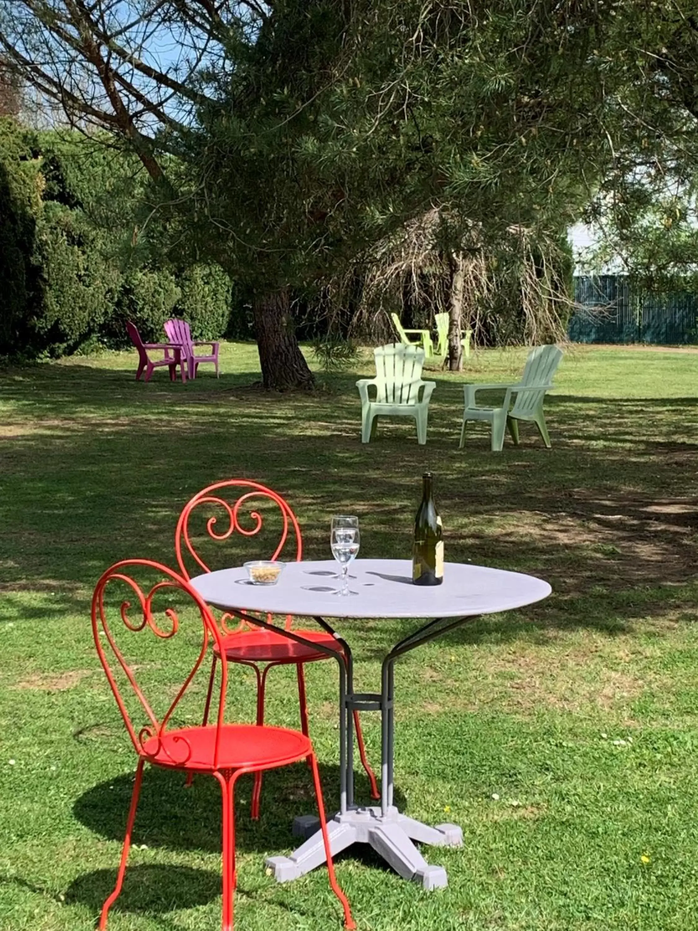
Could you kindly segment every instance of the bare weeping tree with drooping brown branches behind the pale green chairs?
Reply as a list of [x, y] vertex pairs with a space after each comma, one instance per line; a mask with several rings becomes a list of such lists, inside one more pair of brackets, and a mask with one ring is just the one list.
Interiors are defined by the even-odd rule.
[[[445, 236], [444, 226], [449, 228]], [[510, 226], [491, 242], [477, 223], [433, 208], [379, 242], [352, 269], [352, 275], [358, 271], [363, 277], [352, 330], [385, 338], [392, 333], [385, 311], [400, 313], [408, 304], [427, 307], [430, 315], [448, 313], [444, 364], [450, 371], [463, 369], [463, 330], [472, 329], [476, 343], [483, 343], [491, 338], [495, 318], [507, 325], [508, 336], [500, 339], [561, 340], [571, 307], [561, 275], [566, 259], [559, 231]], [[351, 288], [349, 277], [332, 282], [326, 294], [329, 317]], [[507, 306], [495, 308], [502, 295]]]

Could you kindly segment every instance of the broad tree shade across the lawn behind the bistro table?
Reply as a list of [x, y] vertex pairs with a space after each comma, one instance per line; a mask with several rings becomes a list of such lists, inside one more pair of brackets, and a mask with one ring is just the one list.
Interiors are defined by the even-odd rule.
[[[244, 400], [232, 389], [249, 373], [195, 385], [129, 379], [81, 366], [36, 366], [7, 378], [15, 416], [35, 417], [40, 408], [49, 418], [46, 430], [8, 435], [5, 443], [4, 467], [16, 478], [7, 481], [11, 532], [0, 533], [0, 544], [17, 563], [9, 585], [20, 595], [42, 585], [50, 594], [61, 584], [91, 590], [105, 566], [126, 556], [172, 564], [181, 506], [235, 474], [288, 498], [308, 559], [329, 557], [329, 514], [346, 506], [366, 528], [361, 556], [409, 558], [419, 476], [432, 468], [447, 559], [537, 574], [554, 590], [544, 605], [463, 628], [456, 641], [525, 637], [525, 619], [612, 632], [638, 616], [637, 592], [647, 587], [655, 595], [642, 601], [645, 616], [682, 609], [678, 592], [659, 587], [695, 574], [698, 509], [688, 496], [696, 492], [698, 445], [683, 429], [694, 398], [552, 395], [553, 450], [526, 434], [521, 447], [493, 454], [486, 431], [458, 450], [462, 390], [448, 379], [438, 385], [426, 447], [402, 425], [360, 443], [355, 374], [334, 377], [331, 398], [248, 392]], [[259, 541], [235, 543], [226, 540], [220, 562], [209, 564], [258, 555]], [[8, 619], [34, 622], [86, 610], [87, 598], [73, 594], [60, 602], [16, 599], [6, 608]], [[392, 627], [367, 628], [369, 655], [400, 638]], [[363, 637], [364, 629], [356, 639]]]

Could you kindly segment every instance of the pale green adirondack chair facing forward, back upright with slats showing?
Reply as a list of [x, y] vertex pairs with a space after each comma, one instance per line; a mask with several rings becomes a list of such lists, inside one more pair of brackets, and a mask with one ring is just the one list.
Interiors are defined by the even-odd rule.
[[[419, 346], [391, 343], [373, 350], [376, 377], [356, 382], [361, 398], [361, 442], [376, 435], [379, 417], [414, 417], [417, 441], [426, 442], [429, 398], [436, 382], [422, 381], [424, 350]], [[375, 394], [375, 398], [370, 396]]]

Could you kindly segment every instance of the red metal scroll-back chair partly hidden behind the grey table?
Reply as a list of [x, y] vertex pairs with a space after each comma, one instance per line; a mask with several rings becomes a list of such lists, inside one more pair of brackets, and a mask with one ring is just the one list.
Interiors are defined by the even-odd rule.
[[[242, 492], [232, 504], [221, 497], [221, 493], [224, 493], [227, 489], [239, 489]], [[301, 528], [287, 502], [279, 494], [272, 491], [271, 488], [267, 488], [259, 482], [248, 481], [248, 479], [226, 479], [225, 481], [218, 481], [213, 485], [208, 485], [208, 488], [204, 488], [200, 492], [197, 492], [188, 504], [184, 506], [181, 512], [175, 532], [175, 551], [177, 553], [177, 562], [179, 563], [180, 571], [184, 578], [188, 580], [191, 577], [186, 566], [187, 552], [203, 572], [209, 573], [211, 571], [208, 564], [201, 558], [199, 553], [197, 553], [192, 542], [189, 528], [189, 519], [192, 512], [201, 506], [208, 506], [208, 512], [210, 512], [211, 509], [218, 510], [219, 512], [222, 511], [226, 526], [220, 533], [217, 532], [216, 529], [217, 519], [215, 514], [208, 517], [206, 521], [206, 532], [208, 533], [208, 537], [214, 541], [228, 540], [235, 532], [243, 537], [254, 536], [262, 530], [263, 519], [259, 511], [249, 511], [248, 518], [252, 522], [250, 528], [243, 527], [240, 523], [240, 509], [247, 506], [248, 502], [253, 499], [257, 502], [254, 506], [260, 506], [264, 503], [263, 499], [266, 499], [267, 502], [271, 502], [273, 505], [277, 506], [280, 512], [282, 522], [281, 539], [269, 558], [272, 560], [279, 559], [286, 549], [289, 559], [298, 561], [302, 559]], [[302, 643], [290, 641], [282, 634], [276, 634], [273, 631], [264, 630], [245, 622], [236, 621], [236, 627], [231, 630], [226, 625], [226, 621], [229, 620], [231, 620], [230, 614], [224, 614], [221, 619], [224, 633], [222, 642], [225, 654], [229, 663], [238, 663], [242, 666], [248, 666], [255, 671], [257, 677], [257, 723], [262, 724], [264, 722], [264, 690], [267, 673], [275, 666], [295, 665], [298, 679], [298, 698], [301, 706], [301, 730], [302, 733], [307, 736], [308, 707], [305, 697], [305, 675], [303, 672], [303, 665], [305, 663], [314, 663], [318, 660], [331, 657], [329, 657], [327, 653], [319, 650], [313, 651]], [[289, 615], [286, 618], [287, 629], [291, 628], [292, 621], [293, 618]], [[342, 645], [336, 641], [330, 633], [324, 630], [303, 629], [301, 632], [303, 638], [321, 644], [326, 649], [342, 650]], [[208, 686], [209, 695], [213, 687], [213, 682], [215, 681], [217, 659], [218, 654], [214, 649], [213, 664]], [[208, 702], [206, 712], [208, 713]], [[205, 718], [204, 721], [206, 722], [206, 720]], [[356, 742], [358, 744], [361, 763], [366, 770], [367, 776], [369, 776], [370, 795], [372, 799], [377, 800], [380, 799], [381, 796], [376, 784], [376, 777], [366, 758], [364, 738], [361, 733], [361, 725], [356, 710], [354, 711], [354, 722], [356, 727]], [[253, 818], [258, 818], [260, 816], [261, 792], [262, 773], [259, 773], [255, 776], [255, 786], [252, 793], [251, 816]]]

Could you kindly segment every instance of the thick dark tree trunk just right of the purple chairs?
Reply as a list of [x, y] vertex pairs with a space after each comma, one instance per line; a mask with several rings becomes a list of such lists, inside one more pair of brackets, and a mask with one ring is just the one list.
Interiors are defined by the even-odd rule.
[[262, 365], [262, 385], [268, 391], [312, 388], [315, 378], [296, 339], [289, 291], [284, 288], [257, 295], [252, 313]]

